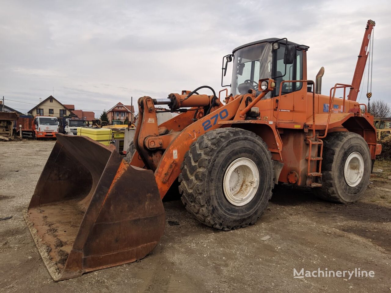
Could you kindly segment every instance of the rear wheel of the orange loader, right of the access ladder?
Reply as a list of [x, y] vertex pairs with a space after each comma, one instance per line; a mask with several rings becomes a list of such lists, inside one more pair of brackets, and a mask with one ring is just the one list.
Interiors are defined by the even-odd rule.
[[332, 132], [324, 139], [323, 186], [314, 188], [317, 197], [331, 202], [355, 202], [368, 186], [371, 154], [368, 144], [354, 132]]

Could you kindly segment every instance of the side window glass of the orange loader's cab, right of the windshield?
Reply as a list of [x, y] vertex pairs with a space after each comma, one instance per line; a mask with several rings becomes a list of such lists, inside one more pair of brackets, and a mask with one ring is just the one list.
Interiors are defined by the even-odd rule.
[[[274, 96], [280, 93], [280, 86], [283, 80], [301, 80], [303, 79], [303, 52], [296, 50], [296, 57], [293, 64], [284, 64], [285, 45], [280, 45], [280, 48], [274, 50], [274, 80], [276, 81], [276, 88], [274, 89]], [[303, 84], [301, 82], [284, 82], [282, 84], [282, 94], [292, 93], [301, 89]]]

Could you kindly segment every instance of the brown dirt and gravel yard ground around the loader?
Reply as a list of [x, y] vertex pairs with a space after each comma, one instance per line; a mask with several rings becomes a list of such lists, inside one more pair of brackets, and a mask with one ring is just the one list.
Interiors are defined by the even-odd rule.
[[[197, 222], [179, 200], [165, 202], [165, 234], [145, 259], [54, 282], [22, 215], [53, 145], [0, 142], [0, 218], [12, 216], [0, 221], [0, 292], [391, 292], [391, 163], [384, 161], [354, 204], [279, 187], [255, 225], [230, 232]], [[360, 268], [375, 277], [294, 279], [294, 268]]]

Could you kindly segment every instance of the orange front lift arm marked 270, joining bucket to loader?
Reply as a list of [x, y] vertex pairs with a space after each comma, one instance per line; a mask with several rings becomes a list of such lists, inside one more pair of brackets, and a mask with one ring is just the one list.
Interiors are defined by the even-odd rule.
[[[172, 99], [167, 103], [175, 104], [178, 101], [177, 107], [179, 107], [183, 104], [180, 101], [186, 95], [171, 94], [171, 97]], [[137, 152], [133, 155], [130, 164], [140, 166], [140, 156], [138, 154], [141, 155], [143, 163], [155, 171], [155, 180], [161, 198], [165, 196], [171, 184], [178, 178], [181, 163], [190, 145], [205, 132], [222, 127], [218, 122], [232, 120], [242, 100], [241, 98], [235, 98], [226, 105], [217, 102], [218, 105], [212, 107], [208, 115], [204, 115], [203, 109], [197, 110], [199, 106], [207, 106], [212, 99], [213, 96], [207, 96], [206, 99], [204, 95], [192, 95], [185, 100], [185, 105], [192, 106], [193, 108], [190, 110], [197, 111], [196, 115], [193, 114], [193, 111], [188, 111], [158, 127], [154, 103], [160, 101], [153, 101], [150, 97], [140, 98], [139, 121], [141, 123], [137, 125], [134, 140]], [[204, 103], [200, 104], [200, 100]], [[199, 119], [192, 121], [193, 116], [197, 116]], [[177, 123], [179, 121], [180, 123]], [[176, 129], [173, 129], [175, 123]], [[168, 134], [159, 135], [159, 129], [162, 130], [166, 125], [172, 131]]]

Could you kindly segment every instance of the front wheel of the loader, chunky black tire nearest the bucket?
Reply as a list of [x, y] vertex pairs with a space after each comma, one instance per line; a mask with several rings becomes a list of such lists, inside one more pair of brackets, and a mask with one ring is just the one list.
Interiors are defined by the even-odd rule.
[[248, 130], [222, 128], [192, 143], [179, 192], [197, 220], [216, 229], [254, 224], [272, 195], [273, 166], [266, 143]]

